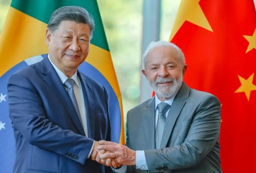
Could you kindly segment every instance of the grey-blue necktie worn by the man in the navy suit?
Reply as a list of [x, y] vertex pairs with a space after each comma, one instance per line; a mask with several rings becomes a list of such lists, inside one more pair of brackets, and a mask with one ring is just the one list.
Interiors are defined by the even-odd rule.
[[82, 124], [82, 119], [81, 119], [81, 116], [80, 116], [80, 111], [79, 111], [79, 106], [77, 104], [77, 99], [75, 98], [75, 93], [74, 93], [74, 83], [75, 81], [72, 79], [72, 78], [68, 78], [66, 80], [66, 82], [64, 83], [64, 85], [66, 86], [67, 88], [67, 93], [69, 94], [69, 97], [75, 107], [75, 111], [77, 112], [77, 116], [79, 117], [79, 120]]

